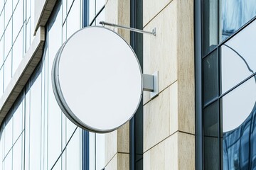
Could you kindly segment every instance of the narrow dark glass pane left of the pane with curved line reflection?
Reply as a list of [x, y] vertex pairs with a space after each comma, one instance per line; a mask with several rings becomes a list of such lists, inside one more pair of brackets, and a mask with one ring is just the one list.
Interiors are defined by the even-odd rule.
[[218, 50], [203, 59], [203, 101], [208, 103], [218, 96]]

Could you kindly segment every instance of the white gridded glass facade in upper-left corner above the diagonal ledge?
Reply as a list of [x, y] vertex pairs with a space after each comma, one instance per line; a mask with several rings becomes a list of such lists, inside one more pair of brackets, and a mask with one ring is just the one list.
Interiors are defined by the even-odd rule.
[[0, 1], [0, 96], [33, 40], [34, 1]]

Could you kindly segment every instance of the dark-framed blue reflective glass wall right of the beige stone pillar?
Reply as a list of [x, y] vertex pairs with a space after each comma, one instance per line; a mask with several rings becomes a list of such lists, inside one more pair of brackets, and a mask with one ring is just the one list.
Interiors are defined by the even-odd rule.
[[256, 169], [256, 2], [201, 5], [203, 168]]

